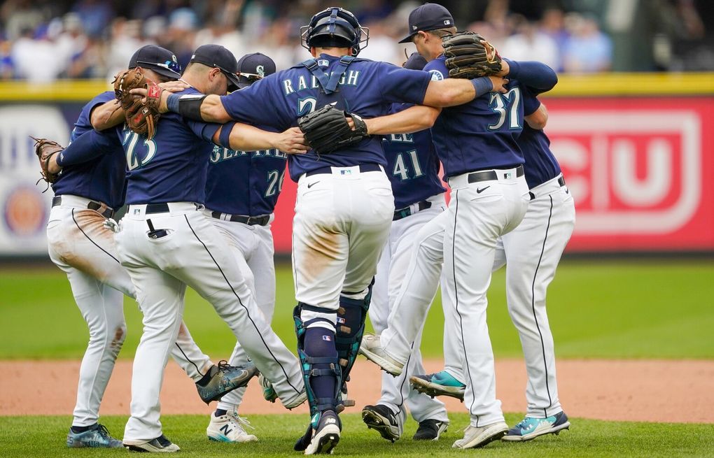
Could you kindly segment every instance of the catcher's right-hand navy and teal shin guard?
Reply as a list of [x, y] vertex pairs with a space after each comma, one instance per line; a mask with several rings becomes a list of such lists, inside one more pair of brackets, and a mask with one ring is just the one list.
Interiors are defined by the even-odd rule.
[[[335, 332], [335, 346], [337, 356], [342, 367], [340, 387], [344, 390], [345, 384], [349, 381], [350, 371], [357, 360], [359, 345], [364, 334], [364, 324], [367, 320], [367, 310], [372, 300], [372, 280], [368, 287], [367, 295], [364, 299], [352, 299], [340, 296], [340, 308], [337, 311], [337, 325]], [[345, 406], [353, 405], [353, 402], [342, 402]], [[349, 404], [348, 404], [349, 403]]]

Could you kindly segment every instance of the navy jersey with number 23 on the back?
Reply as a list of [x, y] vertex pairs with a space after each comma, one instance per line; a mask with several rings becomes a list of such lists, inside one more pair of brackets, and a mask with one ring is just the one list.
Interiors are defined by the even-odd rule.
[[[197, 94], [194, 88], [180, 94]], [[166, 113], [148, 140], [124, 126], [121, 143], [126, 156], [126, 203], [203, 203], [206, 195], [211, 138], [219, 124], [189, 121]]]

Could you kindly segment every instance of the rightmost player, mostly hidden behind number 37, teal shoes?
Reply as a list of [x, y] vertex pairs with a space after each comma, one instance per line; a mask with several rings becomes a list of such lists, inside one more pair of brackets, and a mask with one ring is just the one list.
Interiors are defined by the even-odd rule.
[[[558, 398], [553, 334], [545, 310], [545, 293], [573, 233], [575, 206], [573, 196], [565, 187], [560, 165], [550, 151], [548, 136], [542, 130], [548, 116], [545, 106], [527, 88], [523, 88], [523, 110], [526, 125], [518, 144], [526, 159], [524, 168], [531, 203], [521, 224], [499, 241], [493, 265], [496, 270], [506, 264], [508, 312], [521, 337], [528, 372], [526, 417], [503, 436], [507, 441], [558, 434], [570, 426]], [[446, 315], [445, 330], [453, 329], [454, 320], [452, 310]], [[458, 334], [444, 332], [446, 367], [436, 374], [415, 375], [411, 379], [415, 387], [430, 395], [463, 399], [466, 385], [462, 382], [458, 347]]]

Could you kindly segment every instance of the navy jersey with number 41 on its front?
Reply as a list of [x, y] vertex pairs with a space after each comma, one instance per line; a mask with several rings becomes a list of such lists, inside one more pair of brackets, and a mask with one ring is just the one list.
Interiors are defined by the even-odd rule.
[[[395, 103], [390, 113], [398, 113], [410, 106]], [[387, 158], [385, 170], [392, 183], [395, 208], [408, 207], [446, 191], [438, 176], [439, 158], [429, 129], [384, 136], [382, 146]]]

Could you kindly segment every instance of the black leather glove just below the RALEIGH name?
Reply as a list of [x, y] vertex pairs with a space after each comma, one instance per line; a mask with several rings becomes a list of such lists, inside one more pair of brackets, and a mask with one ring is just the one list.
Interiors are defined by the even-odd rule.
[[[348, 117], [353, 119], [355, 130], [347, 123]], [[368, 137], [367, 125], [362, 118], [332, 105], [323, 106], [298, 119], [298, 127], [305, 134], [310, 148], [318, 154], [331, 153]]]

